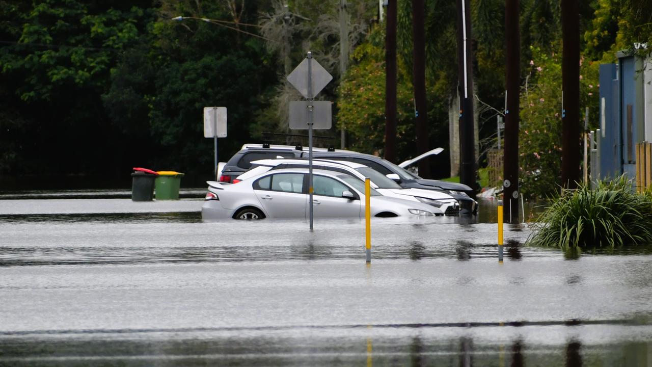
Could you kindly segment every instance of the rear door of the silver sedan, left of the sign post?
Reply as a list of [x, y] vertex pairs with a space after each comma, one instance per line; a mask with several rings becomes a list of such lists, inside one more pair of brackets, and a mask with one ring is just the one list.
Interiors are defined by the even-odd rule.
[[304, 174], [277, 173], [253, 183], [254, 193], [269, 217], [304, 218], [308, 195], [304, 193]]

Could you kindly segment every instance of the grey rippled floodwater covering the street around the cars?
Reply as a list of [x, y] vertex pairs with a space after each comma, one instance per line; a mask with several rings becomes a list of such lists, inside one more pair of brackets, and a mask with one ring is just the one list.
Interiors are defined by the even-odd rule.
[[367, 265], [357, 219], [60, 196], [0, 197], [0, 366], [652, 365], [652, 249], [500, 264], [495, 202], [373, 219]]

